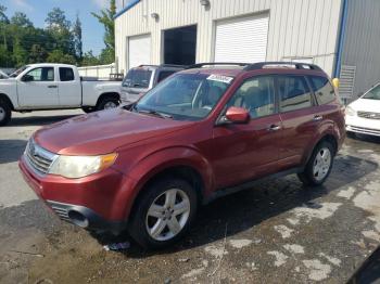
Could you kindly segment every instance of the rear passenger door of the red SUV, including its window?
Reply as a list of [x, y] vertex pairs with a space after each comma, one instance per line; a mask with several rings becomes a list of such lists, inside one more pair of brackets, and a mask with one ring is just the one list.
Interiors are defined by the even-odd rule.
[[281, 169], [300, 166], [306, 150], [313, 146], [322, 117], [304, 76], [277, 77], [282, 138], [279, 152]]

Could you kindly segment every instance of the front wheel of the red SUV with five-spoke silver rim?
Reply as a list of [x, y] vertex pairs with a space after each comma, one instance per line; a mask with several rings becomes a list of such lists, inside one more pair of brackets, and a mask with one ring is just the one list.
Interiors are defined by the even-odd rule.
[[[177, 215], [170, 201], [178, 208]], [[195, 217], [197, 207], [195, 190], [188, 182], [173, 178], [157, 180], [138, 198], [128, 232], [143, 248], [170, 246], [187, 233]]]

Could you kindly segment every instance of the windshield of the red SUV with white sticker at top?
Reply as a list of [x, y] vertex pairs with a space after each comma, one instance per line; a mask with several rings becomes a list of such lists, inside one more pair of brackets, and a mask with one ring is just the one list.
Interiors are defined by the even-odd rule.
[[205, 74], [174, 75], [142, 96], [134, 109], [156, 112], [178, 120], [200, 120], [215, 107], [232, 79]]

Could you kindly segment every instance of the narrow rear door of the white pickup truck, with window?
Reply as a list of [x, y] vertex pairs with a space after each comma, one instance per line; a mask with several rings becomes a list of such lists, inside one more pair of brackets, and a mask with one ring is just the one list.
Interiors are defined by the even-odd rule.
[[75, 80], [72, 67], [59, 67], [59, 101], [61, 106], [78, 107], [81, 105], [81, 82]]

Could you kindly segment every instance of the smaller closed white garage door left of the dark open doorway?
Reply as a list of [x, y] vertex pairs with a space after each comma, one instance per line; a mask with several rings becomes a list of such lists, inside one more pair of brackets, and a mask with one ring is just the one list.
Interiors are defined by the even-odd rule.
[[128, 38], [128, 67], [151, 64], [151, 36], [136, 36]]

